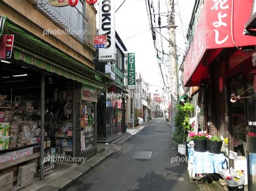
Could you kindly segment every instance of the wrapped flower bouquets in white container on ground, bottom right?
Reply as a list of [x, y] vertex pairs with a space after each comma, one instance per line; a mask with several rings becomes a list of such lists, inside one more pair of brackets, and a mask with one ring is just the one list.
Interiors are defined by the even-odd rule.
[[[232, 187], [238, 187], [243, 190], [245, 184], [245, 173], [244, 171], [234, 170], [232, 167], [230, 170], [226, 169], [224, 171], [219, 171], [219, 174], [226, 181], [228, 190], [231, 190]], [[231, 188], [230, 188], [231, 187]]]

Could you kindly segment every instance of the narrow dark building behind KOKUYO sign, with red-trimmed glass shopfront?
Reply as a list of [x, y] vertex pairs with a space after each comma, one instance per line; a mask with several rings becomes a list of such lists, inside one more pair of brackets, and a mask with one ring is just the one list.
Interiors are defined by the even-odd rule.
[[124, 87], [124, 72], [127, 68], [125, 66], [126, 52], [127, 49], [116, 32], [116, 61], [98, 62], [95, 60], [96, 69], [114, 80], [98, 101], [98, 142], [112, 142], [126, 132], [125, 102], [129, 95]]

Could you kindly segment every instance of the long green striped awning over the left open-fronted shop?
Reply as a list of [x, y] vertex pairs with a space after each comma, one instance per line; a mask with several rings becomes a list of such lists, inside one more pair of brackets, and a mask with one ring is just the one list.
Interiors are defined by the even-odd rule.
[[[71, 58], [57, 48], [46, 44], [44, 41], [21, 29], [21, 27], [10, 23], [8, 20], [5, 22], [5, 26], [9, 33], [11, 31], [11, 33], [15, 34], [14, 58], [16, 60], [23, 60], [26, 63], [45, 69], [48, 72], [56, 73], [98, 89], [106, 87], [106, 84], [103, 82], [112, 81], [109, 77], [85, 66], [83, 63]], [[21, 43], [27, 47], [30, 45], [30, 47], [24, 48], [17, 45]], [[33, 46], [33, 50], [31, 50], [31, 46]], [[41, 54], [38, 53], [39, 51]], [[44, 56], [45, 54], [42, 54], [43, 52], [49, 54], [48, 58]], [[49, 57], [55, 59], [52, 60], [49, 59]]]

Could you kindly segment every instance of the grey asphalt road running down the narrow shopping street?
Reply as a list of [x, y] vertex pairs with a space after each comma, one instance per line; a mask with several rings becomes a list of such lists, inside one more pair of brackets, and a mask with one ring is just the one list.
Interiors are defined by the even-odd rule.
[[[137, 151], [151, 151], [150, 159]], [[142, 131], [122, 144], [122, 149], [100, 162], [91, 171], [73, 181], [64, 190], [198, 190], [188, 179], [183, 157], [172, 148], [170, 126], [162, 118], [153, 119]]]

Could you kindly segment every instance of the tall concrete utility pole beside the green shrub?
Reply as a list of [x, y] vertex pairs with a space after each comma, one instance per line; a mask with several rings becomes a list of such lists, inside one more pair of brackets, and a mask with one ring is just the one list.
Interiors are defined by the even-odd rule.
[[175, 41], [175, 20], [174, 20], [174, 0], [169, 1], [169, 10], [170, 15], [168, 18], [168, 24], [170, 26], [169, 29], [169, 40], [170, 40], [170, 90], [171, 90], [171, 118], [170, 118], [170, 125], [171, 125], [171, 136], [173, 135], [174, 132], [176, 132], [176, 127], [174, 123], [174, 119], [176, 116], [176, 105], [178, 103], [178, 86], [177, 86], [177, 75], [178, 75], [178, 70], [177, 70], [177, 60], [176, 60], [176, 41]]

